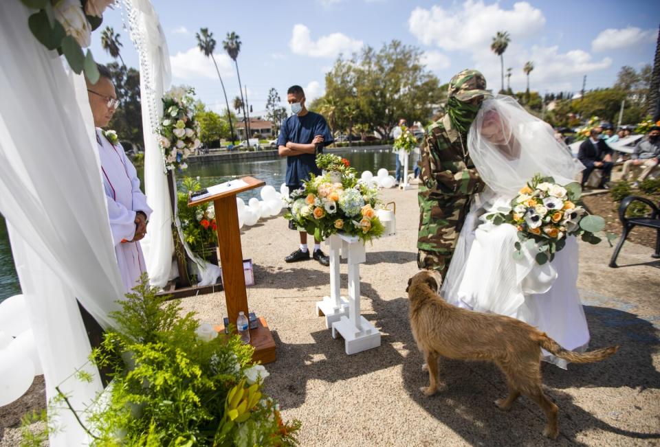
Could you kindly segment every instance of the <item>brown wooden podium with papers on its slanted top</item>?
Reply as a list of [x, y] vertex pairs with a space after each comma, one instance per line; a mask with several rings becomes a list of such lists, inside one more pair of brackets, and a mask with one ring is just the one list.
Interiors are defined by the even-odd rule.
[[[234, 183], [234, 185], [232, 185]], [[215, 222], [218, 231], [218, 251], [222, 266], [223, 288], [230, 323], [236, 324], [241, 310], [248, 317], [248, 295], [245, 293], [243, 273], [243, 250], [239, 231], [239, 213], [236, 208], [236, 194], [265, 185], [254, 177], [243, 177], [216, 187], [209, 187], [208, 194], [188, 200], [188, 206], [213, 201]], [[215, 191], [214, 191], [215, 190]], [[250, 344], [254, 346], [253, 360], [261, 363], [275, 361], [275, 341], [263, 318], [257, 319], [258, 327], [250, 329]], [[223, 326], [216, 326], [223, 330]]]

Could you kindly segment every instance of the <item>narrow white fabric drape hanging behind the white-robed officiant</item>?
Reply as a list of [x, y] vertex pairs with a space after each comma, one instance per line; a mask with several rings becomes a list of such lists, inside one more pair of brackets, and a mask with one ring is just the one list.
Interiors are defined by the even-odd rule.
[[146, 270], [153, 286], [164, 287], [172, 273], [172, 208], [155, 127], [163, 115], [163, 94], [170, 87], [170, 57], [158, 14], [148, 0], [124, 0], [131, 40], [140, 56], [140, 100], [144, 134], [144, 192], [153, 214], [142, 239]]

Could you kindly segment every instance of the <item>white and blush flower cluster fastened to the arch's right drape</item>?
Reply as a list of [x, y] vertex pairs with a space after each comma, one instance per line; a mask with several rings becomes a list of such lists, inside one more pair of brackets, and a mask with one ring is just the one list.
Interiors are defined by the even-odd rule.
[[163, 119], [157, 128], [160, 148], [168, 170], [188, 168], [185, 160], [201, 145], [192, 95], [195, 90], [174, 87], [163, 96]]

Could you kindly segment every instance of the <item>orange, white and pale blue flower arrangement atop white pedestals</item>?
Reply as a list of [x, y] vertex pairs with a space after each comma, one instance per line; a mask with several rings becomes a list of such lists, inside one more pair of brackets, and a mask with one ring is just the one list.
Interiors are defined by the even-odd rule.
[[319, 154], [317, 165], [327, 172], [311, 176], [303, 188], [291, 194], [284, 217], [318, 240], [339, 232], [358, 236], [362, 242], [380, 238], [384, 227], [374, 209], [379, 201], [377, 189], [358, 180], [355, 169], [343, 160]]

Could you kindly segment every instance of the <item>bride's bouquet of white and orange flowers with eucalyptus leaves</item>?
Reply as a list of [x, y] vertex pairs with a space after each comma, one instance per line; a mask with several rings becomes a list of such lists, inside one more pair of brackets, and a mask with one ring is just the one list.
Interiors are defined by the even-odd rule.
[[511, 200], [510, 210], [487, 214], [486, 219], [494, 225], [507, 223], [518, 229], [520, 241], [515, 244], [516, 260], [524, 256], [525, 246], [532, 253], [536, 251], [538, 264], [545, 264], [564, 248], [567, 236], [581, 236], [590, 244], [601, 242], [595, 233], [604, 229], [605, 220], [588, 214], [580, 203], [580, 196], [579, 183], [562, 186], [552, 177], [537, 174]]

